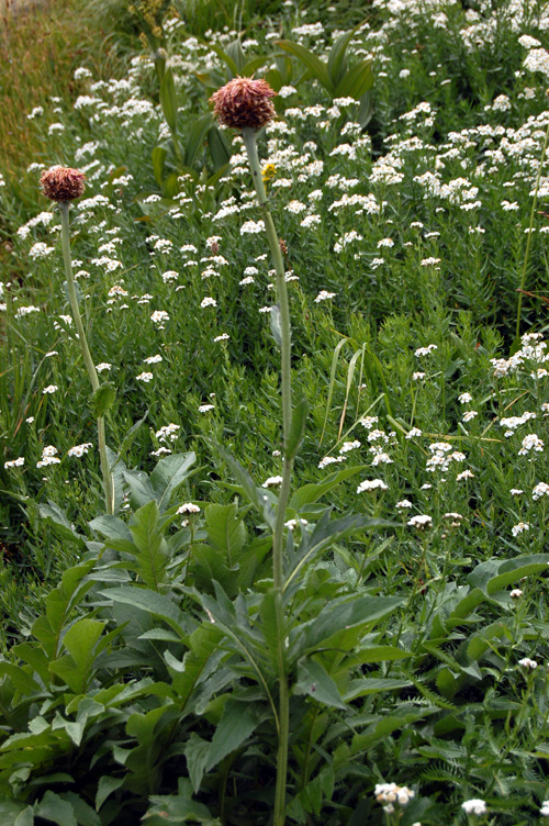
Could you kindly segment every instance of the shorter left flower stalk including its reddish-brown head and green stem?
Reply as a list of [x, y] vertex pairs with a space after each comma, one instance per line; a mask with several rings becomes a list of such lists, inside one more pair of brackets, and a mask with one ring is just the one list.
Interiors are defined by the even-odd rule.
[[[86, 337], [86, 331], [82, 324], [82, 317], [80, 315], [80, 308], [78, 306], [75, 277], [72, 275], [72, 260], [70, 257], [69, 206], [70, 202], [74, 201], [75, 198], [79, 198], [82, 194], [85, 189], [85, 176], [77, 169], [54, 168], [43, 172], [41, 183], [46, 198], [49, 198], [52, 201], [56, 201], [59, 204], [61, 213], [63, 261], [65, 265], [65, 277], [67, 279], [67, 292], [78, 334], [78, 342], [80, 344], [83, 361], [90, 379], [91, 389], [93, 392], [96, 392], [97, 390], [99, 390], [100, 381], [98, 372], [96, 370], [96, 365], [93, 364], [93, 359], [91, 358], [88, 339]], [[101, 473], [103, 476], [105, 511], [108, 514], [113, 514], [114, 485], [109, 466], [109, 459], [107, 456], [104, 416], [98, 416], [97, 423], [99, 456], [101, 462]]]

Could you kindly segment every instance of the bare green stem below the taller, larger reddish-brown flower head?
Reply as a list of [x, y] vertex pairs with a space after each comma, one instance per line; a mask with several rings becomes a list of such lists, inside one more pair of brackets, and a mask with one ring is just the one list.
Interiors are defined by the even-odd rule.
[[288, 741], [290, 735], [290, 697], [288, 689], [288, 674], [284, 658], [284, 638], [283, 632], [284, 609], [282, 603], [283, 581], [283, 543], [284, 543], [284, 522], [285, 509], [290, 496], [290, 485], [292, 480], [293, 458], [288, 456], [288, 442], [292, 424], [292, 379], [291, 379], [291, 323], [290, 305], [288, 303], [288, 289], [285, 283], [284, 259], [280, 249], [280, 242], [274, 228], [274, 222], [267, 203], [267, 193], [265, 191], [261, 167], [257, 154], [256, 133], [253, 129], [243, 129], [242, 135], [244, 146], [249, 160], [254, 187], [256, 189], [259, 209], [262, 212], [267, 241], [274, 265], [277, 276], [277, 299], [280, 310], [280, 332], [281, 332], [281, 389], [282, 389], [282, 433], [283, 433], [283, 465], [282, 465], [282, 484], [278, 500], [277, 520], [274, 523], [274, 535], [272, 537], [272, 584], [277, 591], [277, 622], [281, 629], [278, 640], [277, 666], [279, 677], [279, 747], [277, 754], [277, 788], [274, 792], [274, 826], [283, 826], [285, 819], [285, 783], [288, 774]]

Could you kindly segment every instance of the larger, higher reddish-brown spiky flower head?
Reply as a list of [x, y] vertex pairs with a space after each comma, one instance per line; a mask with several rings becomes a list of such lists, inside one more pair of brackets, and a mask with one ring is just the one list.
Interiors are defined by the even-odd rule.
[[267, 80], [236, 77], [210, 98], [213, 113], [223, 126], [260, 130], [274, 118], [277, 94]]

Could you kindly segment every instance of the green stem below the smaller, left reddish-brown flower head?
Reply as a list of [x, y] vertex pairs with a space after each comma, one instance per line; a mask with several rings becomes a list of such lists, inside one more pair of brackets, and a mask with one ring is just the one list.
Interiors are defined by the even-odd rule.
[[[72, 260], [70, 258], [70, 227], [69, 227], [69, 203], [68, 201], [60, 202], [61, 209], [61, 245], [63, 245], [63, 260], [65, 264], [65, 276], [67, 278], [67, 291], [70, 301], [70, 308], [72, 310], [72, 317], [75, 320], [76, 330], [78, 334], [78, 342], [82, 351], [83, 361], [88, 376], [91, 382], [91, 389], [93, 392], [99, 389], [99, 378], [96, 370], [96, 365], [91, 358], [90, 348], [88, 347], [88, 339], [86, 338], [86, 331], [82, 324], [82, 317], [80, 315], [80, 308], [78, 306], [78, 298], [76, 294], [75, 277], [72, 275]], [[98, 442], [99, 442], [99, 456], [101, 461], [101, 472], [103, 476], [103, 488], [105, 499], [105, 510], [108, 514], [114, 513], [114, 487], [111, 470], [109, 467], [109, 459], [107, 457], [107, 439], [104, 416], [98, 416]]]

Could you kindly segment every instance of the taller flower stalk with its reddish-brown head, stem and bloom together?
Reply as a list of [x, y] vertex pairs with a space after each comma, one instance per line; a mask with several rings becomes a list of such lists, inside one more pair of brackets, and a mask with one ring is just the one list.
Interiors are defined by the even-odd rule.
[[[259, 209], [261, 210], [267, 241], [276, 271], [277, 300], [280, 311], [280, 350], [281, 350], [281, 392], [282, 392], [282, 434], [283, 465], [277, 518], [272, 538], [272, 583], [276, 591], [276, 612], [279, 628], [284, 628], [285, 617], [282, 602], [283, 544], [285, 510], [290, 496], [293, 457], [289, 455], [289, 437], [292, 424], [292, 381], [291, 381], [291, 322], [285, 282], [284, 259], [280, 241], [270, 213], [265, 190], [261, 166], [257, 152], [257, 131], [265, 126], [274, 115], [271, 98], [274, 91], [265, 80], [235, 78], [212, 96], [214, 113], [220, 123], [238, 129], [254, 180]], [[290, 736], [290, 696], [282, 632], [278, 639], [277, 670], [279, 679], [279, 746], [277, 752], [277, 785], [274, 791], [274, 826], [283, 826], [285, 821], [285, 786], [288, 777], [288, 744]]]

